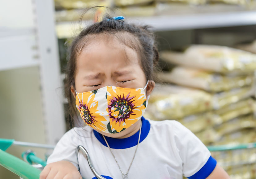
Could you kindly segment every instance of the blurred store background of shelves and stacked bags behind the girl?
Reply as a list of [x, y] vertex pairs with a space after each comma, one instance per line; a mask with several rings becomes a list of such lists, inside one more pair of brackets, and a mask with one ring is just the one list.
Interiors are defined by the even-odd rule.
[[[91, 6], [113, 11], [80, 19]], [[207, 146], [256, 142], [255, 0], [2, 0], [0, 138], [54, 145], [70, 129], [66, 42], [105, 11], [156, 34], [163, 72], [145, 117], [177, 120]], [[42, 159], [51, 153], [30, 148]], [[24, 150], [7, 152], [21, 158]], [[255, 150], [215, 157], [232, 178], [256, 178]], [[0, 178], [19, 177], [0, 166]]]

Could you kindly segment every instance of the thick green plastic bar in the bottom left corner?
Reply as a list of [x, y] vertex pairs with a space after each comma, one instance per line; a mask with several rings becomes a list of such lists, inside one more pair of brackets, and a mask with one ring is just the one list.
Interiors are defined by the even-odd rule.
[[23, 179], [39, 179], [41, 171], [19, 158], [0, 150], [0, 165]]

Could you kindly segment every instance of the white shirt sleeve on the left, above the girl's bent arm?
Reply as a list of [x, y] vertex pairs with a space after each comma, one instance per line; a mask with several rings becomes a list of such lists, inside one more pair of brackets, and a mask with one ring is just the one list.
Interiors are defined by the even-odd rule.
[[62, 136], [62, 138], [57, 143], [56, 147], [53, 150], [53, 153], [47, 159], [47, 164], [67, 160], [75, 165], [79, 170], [78, 160], [77, 160], [77, 147], [75, 139], [74, 129], [69, 130]]

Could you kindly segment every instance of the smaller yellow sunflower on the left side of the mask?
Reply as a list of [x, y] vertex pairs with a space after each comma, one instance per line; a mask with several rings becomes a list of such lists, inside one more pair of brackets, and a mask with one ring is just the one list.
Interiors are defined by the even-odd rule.
[[75, 101], [76, 108], [79, 110], [80, 116], [88, 126], [98, 130], [106, 130], [105, 125], [102, 123], [102, 121], [106, 121], [106, 119], [99, 113], [96, 113], [98, 111], [98, 102], [94, 100], [96, 92], [97, 90], [77, 93], [78, 96]]

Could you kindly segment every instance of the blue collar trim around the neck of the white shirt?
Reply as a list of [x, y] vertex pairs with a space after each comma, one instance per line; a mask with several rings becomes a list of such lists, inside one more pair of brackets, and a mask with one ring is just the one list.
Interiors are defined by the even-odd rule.
[[[144, 117], [141, 117], [141, 134], [140, 134], [140, 140], [139, 143], [141, 143], [149, 133], [150, 130], [150, 123], [147, 121]], [[102, 143], [104, 146], [108, 147], [104, 138], [102, 137], [102, 134], [98, 133], [96, 130], [93, 130], [93, 133], [95, 137]], [[124, 139], [116, 139], [112, 137], [105, 136], [106, 140], [109, 143], [109, 147], [113, 149], [126, 149], [130, 147], [134, 147], [138, 144], [138, 138], [139, 138], [139, 131], [133, 134], [130, 137], [124, 138]]]

